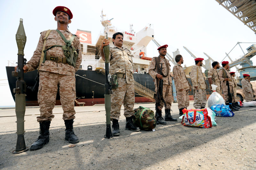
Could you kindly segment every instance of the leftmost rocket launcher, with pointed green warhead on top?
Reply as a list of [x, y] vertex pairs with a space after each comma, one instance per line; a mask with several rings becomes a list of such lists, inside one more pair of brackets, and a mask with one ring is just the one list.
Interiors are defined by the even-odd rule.
[[24, 47], [27, 41], [27, 37], [23, 27], [23, 19], [20, 18], [20, 25], [16, 33], [16, 42], [18, 46], [18, 67], [16, 71], [12, 71], [12, 76], [17, 78], [16, 88], [13, 89], [15, 93], [15, 113], [17, 117], [17, 143], [16, 149], [12, 153], [21, 153], [28, 150], [26, 147], [24, 139], [24, 116], [26, 110], [26, 82], [24, 81], [23, 65], [26, 64], [26, 59], [24, 58]]

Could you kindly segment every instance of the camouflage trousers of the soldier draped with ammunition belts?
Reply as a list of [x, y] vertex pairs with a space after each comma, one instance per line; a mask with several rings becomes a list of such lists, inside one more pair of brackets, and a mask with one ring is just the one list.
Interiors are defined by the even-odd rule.
[[[155, 91], [157, 92], [157, 85], [155, 84]], [[166, 103], [166, 107], [165, 109], [170, 109], [172, 106], [172, 85], [163, 85], [163, 98], [164, 101]], [[164, 102], [161, 101], [160, 106], [159, 106], [162, 110], [162, 108], [164, 107]]]

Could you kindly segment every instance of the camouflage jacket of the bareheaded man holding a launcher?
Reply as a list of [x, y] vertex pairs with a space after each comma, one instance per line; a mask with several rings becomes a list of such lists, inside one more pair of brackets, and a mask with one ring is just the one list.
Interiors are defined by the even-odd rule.
[[127, 48], [111, 47], [109, 53], [110, 75], [125, 74], [127, 84], [133, 84], [133, 55]]

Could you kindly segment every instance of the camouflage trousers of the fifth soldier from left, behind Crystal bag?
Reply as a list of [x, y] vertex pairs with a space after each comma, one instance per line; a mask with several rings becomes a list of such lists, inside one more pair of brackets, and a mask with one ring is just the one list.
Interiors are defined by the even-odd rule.
[[207, 102], [207, 97], [206, 97], [206, 91], [205, 89], [194, 89], [194, 104], [193, 106], [195, 108], [201, 108], [205, 107], [206, 102]]

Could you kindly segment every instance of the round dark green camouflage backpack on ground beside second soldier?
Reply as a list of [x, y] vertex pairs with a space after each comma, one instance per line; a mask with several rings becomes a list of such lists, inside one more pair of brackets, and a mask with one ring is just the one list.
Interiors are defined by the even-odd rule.
[[134, 112], [133, 122], [135, 126], [143, 130], [156, 128], [155, 113], [150, 108], [140, 106], [134, 109]]

